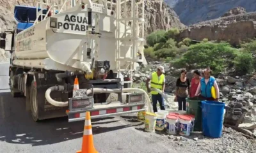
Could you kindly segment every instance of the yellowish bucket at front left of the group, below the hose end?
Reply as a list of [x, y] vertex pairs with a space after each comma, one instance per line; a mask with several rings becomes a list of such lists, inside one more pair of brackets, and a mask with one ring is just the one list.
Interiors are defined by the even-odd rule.
[[157, 116], [155, 113], [147, 112], [145, 115], [145, 131], [154, 132]]

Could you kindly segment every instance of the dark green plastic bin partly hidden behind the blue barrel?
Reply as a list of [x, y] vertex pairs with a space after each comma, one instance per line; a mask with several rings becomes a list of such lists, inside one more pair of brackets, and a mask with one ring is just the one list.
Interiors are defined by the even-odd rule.
[[189, 115], [195, 115], [195, 126], [194, 131], [202, 131], [202, 108], [201, 101], [198, 97], [195, 98], [186, 98], [187, 109], [186, 112]]

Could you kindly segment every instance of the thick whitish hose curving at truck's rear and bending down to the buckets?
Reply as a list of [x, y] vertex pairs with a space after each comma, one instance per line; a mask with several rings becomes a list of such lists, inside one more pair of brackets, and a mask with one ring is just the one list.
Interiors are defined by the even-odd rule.
[[[45, 99], [51, 105], [53, 106], [68, 106], [68, 101], [55, 101], [54, 99], [51, 98], [50, 94], [52, 91], [64, 91], [64, 86], [63, 85], [58, 85], [58, 86], [53, 86], [49, 87], [47, 91], [45, 92]], [[138, 88], [125, 88], [125, 89], [104, 89], [104, 88], [93, 88], [93, 93], [120, 93], [120, 92], [142, 92], [145, 95], [146, 98], [146, 105], [147, 105], [147, 112], [152, 112], [152, 106], [150, 105], [150, 99], [148, 97], [147, 92], [145, 92], [143, 89], [138, 89]], [[88, 89], [86, 94], [91, 94], [92, 89]]]

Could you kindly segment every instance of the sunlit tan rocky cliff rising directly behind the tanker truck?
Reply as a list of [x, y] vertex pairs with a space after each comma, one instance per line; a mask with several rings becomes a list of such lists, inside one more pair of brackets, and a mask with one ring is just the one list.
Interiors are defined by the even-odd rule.
[[[0, 31], [12, 29], [15, 25], [13, 8], [15, 5], [35, 6], [35, 0], [0, 0]], [[129, 6], [128, 6], [129, 9]], [[145, 0], [145, 35], [157, 29], [185, 27], [178, 15], [163, 0]]]

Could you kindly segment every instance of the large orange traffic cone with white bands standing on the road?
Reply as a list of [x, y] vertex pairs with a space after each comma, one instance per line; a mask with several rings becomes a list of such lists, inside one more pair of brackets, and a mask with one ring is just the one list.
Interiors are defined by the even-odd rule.
[[98, 153], [93, 144], [90, 112], [86, 112], [85, 115], [82, 150], [77, 151], [77, 153]]

